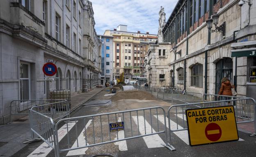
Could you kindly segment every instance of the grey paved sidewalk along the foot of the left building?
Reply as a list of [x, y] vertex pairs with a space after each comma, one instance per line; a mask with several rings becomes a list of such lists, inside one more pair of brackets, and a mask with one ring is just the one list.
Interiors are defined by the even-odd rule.
[[[94, 95], [98, 94], [105, 87], [94, 88], [88, 93], [80, 93], [71, 96], [71, 112], [76, 108], [90, 100]], [[31, 138], [30, 125], [28, 117], [23, 117], [18, 122], [12, 122], [0, 126], [0, 156], [10, 157], [27, 144], [23, 144], [26, 139]]]

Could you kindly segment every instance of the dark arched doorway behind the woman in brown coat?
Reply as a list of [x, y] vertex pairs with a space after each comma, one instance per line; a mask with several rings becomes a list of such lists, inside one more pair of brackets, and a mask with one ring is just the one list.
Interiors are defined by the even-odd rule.
[[219, 93], [221, 87], [221, 80], [227, 77], [231, 82], [233, 80], [233, 60], [232, 58], [225, 57], [216, 63], [216, 85], [215, 94]]

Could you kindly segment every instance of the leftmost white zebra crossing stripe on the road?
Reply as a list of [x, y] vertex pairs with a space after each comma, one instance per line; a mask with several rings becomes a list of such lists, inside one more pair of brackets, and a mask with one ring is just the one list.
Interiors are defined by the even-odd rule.
[[[78, 121], [76, 121], [78, 122]], [[68, 122], [68, 128], [69, 130], [71, 130], [71, 128], [73, 128], [73, 126], [75, 126], [75, 122]], [[59, 128], [58, 130], [58, 139], [59, 142], [63, 139], [63, 137], [67, 134], [67, 129], [66, 129], [66, 124], [64, 124], [61, 128]], [[52, 136], [53, 137], [53, 136]], [[35, 149], [32, 153], [30, 153], [30, 155], [28, 155], [27, 157], [46, 157], [50, 151], [53, 148], [51, 148], [50, 146], [48, 146], [48, 144], [46, 144], [45, 142], [43, 142], [43, 144], [41, 144], [39, 147], [37, 147], [37, 149]]]

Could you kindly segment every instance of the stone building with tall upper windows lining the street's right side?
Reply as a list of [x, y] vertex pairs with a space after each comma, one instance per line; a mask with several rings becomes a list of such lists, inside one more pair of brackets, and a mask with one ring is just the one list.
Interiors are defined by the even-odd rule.
[[[238, 5], [239, 2], [178, 0], [167, 21], [161, 8], [159, 43], [151, 46], [147, 63], [161, 45], [168, 52], [165, 75], [158, 72], [155, 80], [159, 81], [153, 86], [178, 86], [187, 91], [217, 94], [222, 78], [228, 77], [238, 96], [256, 98], [256, 2], [249, 0]], [[155, 55], [154, 62], [162, 64], [162, 56]], [[146, 66], [150, 69], [149, 64]], [[151, 70], [156, 71], [155, 67]], [[146, 73], [149, 75], [149, 71]], [[153, 75], [153, 83], [152, 79]]]

